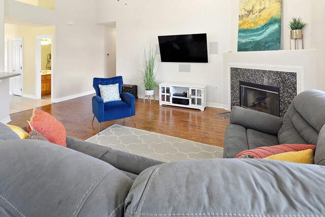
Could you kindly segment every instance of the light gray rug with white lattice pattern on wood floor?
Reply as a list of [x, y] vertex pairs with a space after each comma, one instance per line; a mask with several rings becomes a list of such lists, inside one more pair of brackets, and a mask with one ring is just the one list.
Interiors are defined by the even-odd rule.
[[223, 156], [223, 148], [217, 146], [120, 125], [113, 125], [86, 141], [163, 162]]

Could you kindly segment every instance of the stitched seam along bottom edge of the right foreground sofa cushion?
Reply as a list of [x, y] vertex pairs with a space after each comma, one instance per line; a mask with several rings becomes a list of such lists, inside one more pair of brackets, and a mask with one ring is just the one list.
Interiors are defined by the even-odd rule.
[[179, 216], [179, 215], [228, 215], [228, 216], [248, 216], [248, 217], [324, 217], [324, 215], [313, 214], [282, 214], [282, 215], [259, 215], [259, 214], [240, 214], [240, 213], [178, 213], [178, 214], [158, 214], [158, 213], [142, 213], [126, 210], [131, 214], [137, 215], [155, 215], [155, 216]]

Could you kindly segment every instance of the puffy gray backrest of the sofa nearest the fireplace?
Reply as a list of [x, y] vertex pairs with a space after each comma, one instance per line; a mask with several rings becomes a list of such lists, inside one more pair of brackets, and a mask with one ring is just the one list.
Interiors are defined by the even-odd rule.
[[325, 123], [325, 92], [306, 90], [291, 102], [279, 131], [284, 144], [317, 144], [317, 137]]

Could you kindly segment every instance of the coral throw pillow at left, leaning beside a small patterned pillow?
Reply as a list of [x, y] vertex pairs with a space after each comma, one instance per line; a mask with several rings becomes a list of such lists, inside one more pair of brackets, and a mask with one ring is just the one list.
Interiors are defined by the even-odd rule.
[[[67, 147], [66, 129], [49, 113], [35, 108], [30, 117], [30, 126], [50, 142]], [[30, 127], [27, 125], [27, 132], [29, 133], [29, 131]]]

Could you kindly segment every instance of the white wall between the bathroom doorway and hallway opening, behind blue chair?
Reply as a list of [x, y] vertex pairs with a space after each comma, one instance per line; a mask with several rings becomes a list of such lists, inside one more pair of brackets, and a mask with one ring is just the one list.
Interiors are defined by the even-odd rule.
[[[5, 16], [55, 26], [52, 55], [54, 102], [93, 92], [92, 78], [105, 76], [105, 26], [95, 22], [95, 4], [56, 0], [48, 10], [5, 0]], [[67, 25], [73, 21], [74, 25]], [[56, 60], [56, 61], [54, 61]]]

